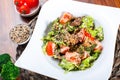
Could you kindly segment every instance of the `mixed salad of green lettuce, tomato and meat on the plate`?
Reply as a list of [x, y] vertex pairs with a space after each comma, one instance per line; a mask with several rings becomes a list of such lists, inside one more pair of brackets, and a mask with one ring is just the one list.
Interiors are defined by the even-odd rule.
[[96, 27], [91, 16], [75, 17], [64, 12], [48, 28], [43, 37], [43, 50], [58, 60], [65, 71], [90, 68], [103, 50], [103, 28]]

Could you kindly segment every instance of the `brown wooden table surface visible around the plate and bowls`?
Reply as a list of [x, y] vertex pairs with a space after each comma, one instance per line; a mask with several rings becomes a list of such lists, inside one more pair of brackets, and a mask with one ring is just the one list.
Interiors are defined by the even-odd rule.
[[[120, 0], [77, 0], [112, 7], [120, 7]], [[23, 18], [15, 9], [13, 0], [1, 0], [0, 2], [0, 54], [9, 53], [13, 58], [16, 55], [17, 45], [9, 38], [12, 27], [21, 23], [28, 23], [33, 17]]]

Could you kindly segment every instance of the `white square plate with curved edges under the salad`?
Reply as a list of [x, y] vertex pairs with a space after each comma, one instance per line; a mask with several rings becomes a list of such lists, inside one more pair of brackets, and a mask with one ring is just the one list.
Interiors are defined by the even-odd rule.
[[[42, 51], [41, 39], [47, 25], [65, 11], [74, 16], [90, 15], [104, 29], [105, 38], [102, 42], [104, 49], [94, 65], [87, 70], [64, 73], [58, 63]], [[77, 1], [50, 0], [42, 6], [32, 38], [15, 65], [58, 80], [108, 80], [113, 65], [119, 21], [120, 10], [118, 8]]]

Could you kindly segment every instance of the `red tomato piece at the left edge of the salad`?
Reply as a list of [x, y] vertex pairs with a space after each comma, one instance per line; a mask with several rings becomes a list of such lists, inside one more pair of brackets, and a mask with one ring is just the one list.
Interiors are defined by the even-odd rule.
[[46, 52], [48, 56], [53, 56], [54, 55], [54, 49], [55, 49], [55, 44], [51, 41], [47, 43], [46, 46]]

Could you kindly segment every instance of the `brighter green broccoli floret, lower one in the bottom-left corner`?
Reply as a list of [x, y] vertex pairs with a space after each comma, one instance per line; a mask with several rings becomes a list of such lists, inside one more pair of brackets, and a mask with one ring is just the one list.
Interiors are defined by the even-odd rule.
[[16, 80], [20, 74], [20, 69], [16, 67], [11, 61], [3, 64], [1, 77], [3, 80]]

